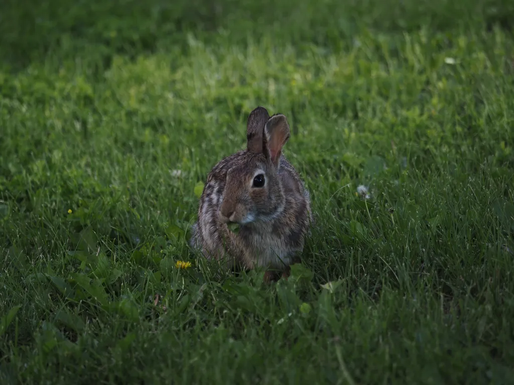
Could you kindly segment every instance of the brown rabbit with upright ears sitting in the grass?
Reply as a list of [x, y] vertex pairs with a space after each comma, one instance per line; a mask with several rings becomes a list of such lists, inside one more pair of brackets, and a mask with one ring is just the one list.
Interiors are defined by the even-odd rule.
[[[289, 137], [283, 114], [270, 117], [257, 107], [248, 115], [246, 150], [219, 161], [207, 177], [193, 249], [229, 268], [264, 267], [265, 282], [289, 277], [313, 219], [309, 191], [282, 154]], [[231, 223], [239, 225], [237, 234]]]

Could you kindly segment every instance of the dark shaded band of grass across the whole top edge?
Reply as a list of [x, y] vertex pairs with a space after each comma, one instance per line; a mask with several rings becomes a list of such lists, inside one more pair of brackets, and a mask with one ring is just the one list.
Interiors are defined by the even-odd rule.
[[[0, 7], [0, 66], [21, 70], [48, 55], [97, 57], [95, 72], [115, 54], [135, 57], [159, 49], [187, 48], [188, 32], [203, 40], [222, 28], [234, 43], [274, 34], [287, 43], [341, 49], [361, 27], [403, 33], [428, 26], [451, 30], [462, 24], [511, 30], [514, 5], [500, 0], [112, 0], [109, 2], [5, 0]], [[280, 33], [278, 31], [280, 30]]]

